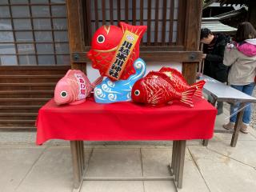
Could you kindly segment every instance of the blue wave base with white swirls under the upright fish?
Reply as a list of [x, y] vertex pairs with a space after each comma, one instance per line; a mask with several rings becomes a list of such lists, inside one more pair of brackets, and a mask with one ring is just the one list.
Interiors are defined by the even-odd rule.
[[126, 80], [112, 82], [110, 78], [104, 79], [102, 83], [94, 88], [94, 99], [98, 103], [129, 102], [131, 101], [131, 89], [138, 79], [146, 73], [146, 62], [142, 58], [134, 62], [136, 73], [130, 75]]

